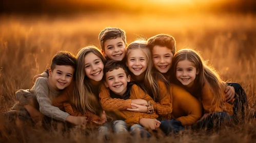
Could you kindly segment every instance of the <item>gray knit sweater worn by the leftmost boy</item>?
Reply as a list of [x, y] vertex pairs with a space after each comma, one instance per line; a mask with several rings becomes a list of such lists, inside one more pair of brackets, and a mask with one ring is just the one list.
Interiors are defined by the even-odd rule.
[[[52, 100], [60, 96], [61, 91], [53, 89], [48, 81], [48, 78], [37, 78], [34, 86], [31, 90], [18, 90], [16, 97], [20, 103], [26, 104], [26, 99], [31, 96], [35, 96], [40, 112], [48, 117], [52, 117], [55, 120], [65, 122], [69, 113], [62, 111], [60, 108], [52, 106]], [[29, 96], [28, 96], [29, 95]]]

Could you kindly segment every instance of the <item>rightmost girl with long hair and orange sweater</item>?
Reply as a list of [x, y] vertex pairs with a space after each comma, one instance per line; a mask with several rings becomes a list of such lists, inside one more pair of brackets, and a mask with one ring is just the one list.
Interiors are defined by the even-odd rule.
[[227, 84], [203, 62], [198, 53], [189, 49], [178, 51], [173, 58], [173, 71], [176, 83], [203, 105], [204, 115], [197, 123], [198, 126], [212, 128], [224, 120], [230, 120], [234, 100], [225, 100]]

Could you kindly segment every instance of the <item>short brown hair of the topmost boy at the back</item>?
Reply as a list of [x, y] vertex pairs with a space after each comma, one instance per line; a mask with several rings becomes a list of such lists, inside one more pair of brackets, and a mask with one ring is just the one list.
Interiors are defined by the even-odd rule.
[[101, 31], [99, 35], [99, 41], [101, 43], [102, 50], [105, 51], [104, 43], [106, 40], [115, 39], [118, 37], [121, 37], [126, 44], [126, 36], [124, 30], [119, 28], [105, 28], [103, 31]]

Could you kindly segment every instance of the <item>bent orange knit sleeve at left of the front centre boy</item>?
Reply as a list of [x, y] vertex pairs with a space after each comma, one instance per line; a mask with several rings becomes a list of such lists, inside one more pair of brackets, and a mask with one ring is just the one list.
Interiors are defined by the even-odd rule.
[[100, 102], [103, 110], [126, 110], [127, 108], [131, 108], [132, 100], [123, 100], [123, 99], [112, 99], [110, 97], [109, 88], [107, 88], [104, 84], [100, 86], [100, 94], [99, 94]]

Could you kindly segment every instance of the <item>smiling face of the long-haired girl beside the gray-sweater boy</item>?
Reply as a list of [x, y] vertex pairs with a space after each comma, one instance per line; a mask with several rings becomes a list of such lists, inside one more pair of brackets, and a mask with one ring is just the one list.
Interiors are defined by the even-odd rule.
[[84, 58], [86, 76], [93, 81], [101, 81], [103, 77], [104, 63], [93, 53], [89, 53]]

